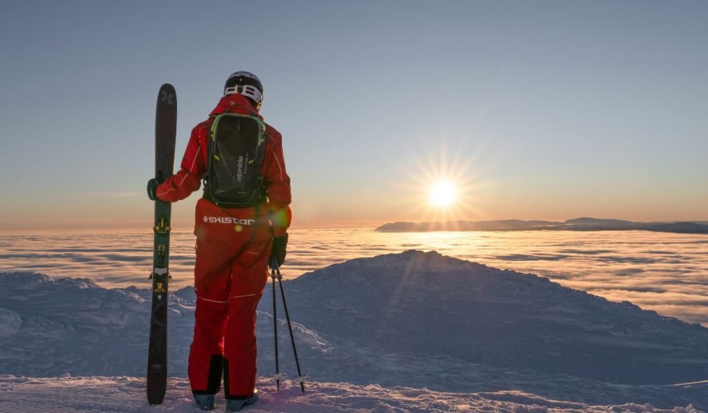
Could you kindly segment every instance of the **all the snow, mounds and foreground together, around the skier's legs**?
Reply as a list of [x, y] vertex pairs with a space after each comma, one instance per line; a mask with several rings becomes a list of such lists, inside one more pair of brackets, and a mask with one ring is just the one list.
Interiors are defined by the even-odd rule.
[[[406, 251], [346, 261], [284, 286], [313, 391], [304, 398], [273, 395], [262, 378], [258, 408], [265, 409], [268, 400], [280, 406], [287, 395], [287, 403], [295, 403], [287, 411], [301, 404], [303, 411], [317, 411], [307, 403], [330, 401], [337, 408], [329, 411], [602, 411], [615, 405], [622, 406], [616, 411], [634, 412], [646, 403], [654, 411], [708, 406], [708, 329], [547, 278]], [[173, 378], [168, 403], [160, 407], [168, 411], [190, 403], [184, 377], [193, 288], [173, 291], [169, 309]], [[275, 365], [271, 309], [268, 285], [258, 312], [262, 376], [272, 375]], [[140, 377], [148, 316], [147, 289], [0, 273], [0, 411], [8, 406], [2, 403], [24, 392], [68, 397], [62, 407], [67, 411], [106, 411], [113, 409], [110, 403], [127, 411], [144, 408]], [[281, 307], [281, 368], [292, 377], [284, 316]], [[98, 387], [99, 396], [84, 394], [81, 380]], [[111, 401], [114, 395], [134, 395], [137, 404]], [[79, 404], [71, 404], [72, 397]], [[81, 397], [91, 401], [81, 404]]]

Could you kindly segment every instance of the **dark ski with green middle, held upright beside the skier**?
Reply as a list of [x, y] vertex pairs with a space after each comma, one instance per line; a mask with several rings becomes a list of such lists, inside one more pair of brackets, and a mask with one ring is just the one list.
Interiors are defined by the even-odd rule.
[[[177, 95], [171, 84], [161, 86], [155, 117], [155, 178], [172, 175], [177, 130]], [[152, 279], [152, 312], [147, 356], [147, 401], [160, 404], [167, 387], [167, 284], [170, 281], [171, 203], [155, 201]]]

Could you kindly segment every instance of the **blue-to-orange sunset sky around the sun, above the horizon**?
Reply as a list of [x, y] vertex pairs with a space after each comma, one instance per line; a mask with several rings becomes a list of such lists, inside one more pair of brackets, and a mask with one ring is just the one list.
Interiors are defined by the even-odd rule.
[[152, 225], [159, 86], [178, 165], [236, 70], [263, 81], [296, 227], [708, 220], [706, 21], [704, 1], [3, 1], [0, 230]]

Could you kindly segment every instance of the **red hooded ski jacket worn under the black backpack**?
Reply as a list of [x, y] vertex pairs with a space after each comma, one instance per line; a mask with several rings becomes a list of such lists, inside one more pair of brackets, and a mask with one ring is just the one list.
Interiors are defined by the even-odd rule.
[[[220, 113], [240, 113], [242, 115], [261, 115], [251, 106], [251, 103], [240, 94], [224, 96], [210, 116]], [[207, 148], [209, 145], [209, 130], [212, 118], [205, 120], [192, 130], [192, 135], [187, 144], [187, 149], [182, 158], [181, 169], [157, 187], [156, 195], [159, 200], [175, 202], [190, 196], [198, 190], [202, 177], [207, 168]], [[261, 205], [262, 213], [268, 214], [273, 236], [280, 237], [285, 234], [290, 226], [290, 176], [285, 171], [285, 159], [282, 156], [282, 136], [280, 132], [270, 125], [266, 125], [268, 140], [265, 144], [265, 159], [261, 168], [261, 175], [265, 178], [265, 188], [268, 189], [268, 202]], [[255, 208], [229, 209], [232, 213], [239, 211], [238, 215], [255, 215]]]

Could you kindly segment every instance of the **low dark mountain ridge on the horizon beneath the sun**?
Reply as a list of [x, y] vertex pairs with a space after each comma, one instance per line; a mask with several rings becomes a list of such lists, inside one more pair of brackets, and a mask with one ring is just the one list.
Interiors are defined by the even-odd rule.
[[708, 234], [708, 222], [632, 222], [575, 218], [554, 221], [447, 221], [447, 222], [390, 222], [376, 229], [379, 232], [433, 232], [433, 231], [654, 231], [679, 234]]

